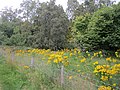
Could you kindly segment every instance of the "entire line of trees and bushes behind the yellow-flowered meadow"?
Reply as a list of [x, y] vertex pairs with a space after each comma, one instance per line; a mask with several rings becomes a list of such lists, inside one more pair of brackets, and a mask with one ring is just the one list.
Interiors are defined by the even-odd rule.
[[0, 15], [0, 44], [44, 49], [120, 48], [120, 4], [113, 0], [68, 0], [66, 12], [55, 0], [24, 0]]

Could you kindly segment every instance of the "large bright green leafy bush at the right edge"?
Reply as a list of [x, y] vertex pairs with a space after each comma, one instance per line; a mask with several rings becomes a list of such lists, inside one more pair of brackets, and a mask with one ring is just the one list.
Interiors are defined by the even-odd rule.
[[119, 7], [119, 4], [104, 7], [89, 18], [76, 18], [74, 28], [81, 48], [116, 50], [120, 47]]

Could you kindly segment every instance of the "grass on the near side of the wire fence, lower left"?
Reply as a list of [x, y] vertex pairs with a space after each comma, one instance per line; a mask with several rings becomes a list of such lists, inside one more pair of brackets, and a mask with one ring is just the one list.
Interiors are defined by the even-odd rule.
[[0, 90], [62, 90], [53, 78], [51, 66], [38, 67], [24, 69], [0, 57]]

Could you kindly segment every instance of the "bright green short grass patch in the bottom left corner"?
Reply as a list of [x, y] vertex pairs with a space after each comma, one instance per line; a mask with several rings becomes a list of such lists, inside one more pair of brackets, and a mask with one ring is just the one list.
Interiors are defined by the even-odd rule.
[[21, 90], [27, 84], [27, 77], [0, 57], [0, 83], [2, 90]]

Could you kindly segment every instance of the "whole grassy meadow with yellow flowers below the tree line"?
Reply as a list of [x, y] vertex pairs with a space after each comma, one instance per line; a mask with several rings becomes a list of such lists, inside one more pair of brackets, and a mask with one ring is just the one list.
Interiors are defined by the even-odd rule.
[[0, 48], [1, 90], [120, 90], [120, 50]]

